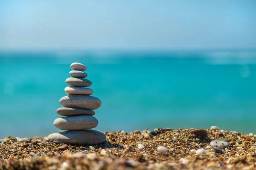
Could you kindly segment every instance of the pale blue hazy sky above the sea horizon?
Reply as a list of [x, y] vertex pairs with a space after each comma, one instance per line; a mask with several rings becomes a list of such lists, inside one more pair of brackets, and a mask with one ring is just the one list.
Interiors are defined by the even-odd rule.
[[1, 0], [0, 49], [256, 49], [255, 0]]

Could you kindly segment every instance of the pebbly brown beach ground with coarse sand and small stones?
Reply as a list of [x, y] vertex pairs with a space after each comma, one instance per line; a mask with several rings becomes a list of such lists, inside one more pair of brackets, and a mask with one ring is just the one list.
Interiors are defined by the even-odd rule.
[[[0, 142], [0, 170], [254, 170], [256, 135], [210, 129], [156, 128], [104, 132], [96, 145], [70, 145], [47, 138]], [[228, 142], [213, 148], [212, 140]]]

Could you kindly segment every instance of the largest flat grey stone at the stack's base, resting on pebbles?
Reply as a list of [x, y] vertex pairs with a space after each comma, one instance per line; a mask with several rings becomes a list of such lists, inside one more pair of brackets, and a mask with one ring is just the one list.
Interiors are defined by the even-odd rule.
[[106, 135], [99, 130], [68, 130], [52, 133], [48, 138], [65, 144], [94, 145], [105, 142]]

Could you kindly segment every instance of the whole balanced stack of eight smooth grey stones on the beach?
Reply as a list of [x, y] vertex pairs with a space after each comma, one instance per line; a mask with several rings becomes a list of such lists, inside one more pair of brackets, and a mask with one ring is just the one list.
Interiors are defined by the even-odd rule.
[[88, 130], [98, 125], [98, 120], [93, 117], [101, 105], [101, 101], [93, 96], [93, 90], [89, 87], [92, 82], [88, 79], [85, 65], [74, 62], [70, 65], [73, 71], [70, 71], [70, 78], [66, 83], [70, 86], [65, 88], [68, 96], [60, 99], [60, 104], [64, 108], [58, 108], [57, 113], [61, 117], [55, 119], [53, 125], [61, 130], [67, 130], [60, 133], [52, 133], [48, 136], [50, 141], [58, 141], [67, 144], [99, 144], [106, 140], [104, 133], [98, 130]]

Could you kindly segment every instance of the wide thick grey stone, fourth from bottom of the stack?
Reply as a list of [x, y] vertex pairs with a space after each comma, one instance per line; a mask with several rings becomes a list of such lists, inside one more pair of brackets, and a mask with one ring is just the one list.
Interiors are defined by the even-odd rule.
[[66, 108], [78, 108], [92, 111], [100, 107], [101, 101], [93, 96], [71, 95], [62, 97], [60, 104]]

